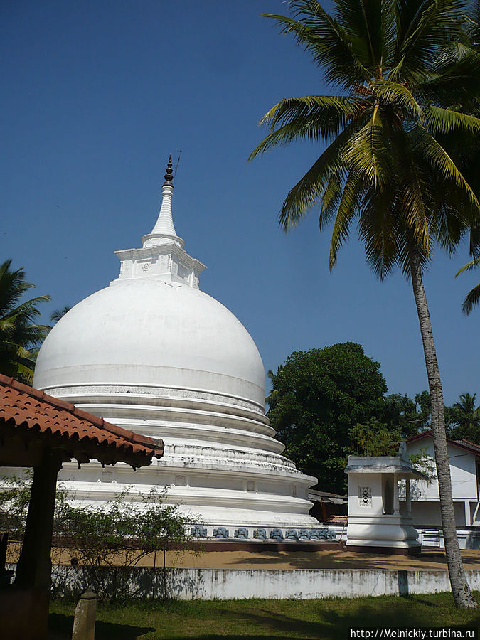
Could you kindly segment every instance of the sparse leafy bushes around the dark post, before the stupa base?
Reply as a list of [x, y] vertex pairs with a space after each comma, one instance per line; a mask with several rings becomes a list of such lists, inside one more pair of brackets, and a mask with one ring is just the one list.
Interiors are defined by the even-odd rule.
[[[3, 477], [0, 481], [0, 533], [21, 543], [25, 531], [31, 474], [23, 478]], [[79, 566], [78, 595], [86, 587], [100, 599], [111, 602], [132, 597], [128, 569], [151, 553], [164, 553], [189, 538], [191, 518], [182, 516], [178, 505], [165, 504], [165, 494], [151, 491], [139, 502], [129, 500], [129, 491], [102, 506], [73, 506], [68, 494], [57, 490], [53, 523], [53, 564], [70, 562]], [[11, 560], [18, 560], [21, 547], [11, 545]], [[72, 567], [57, 572], [53, 591], [62, 592], [63, 581]]]

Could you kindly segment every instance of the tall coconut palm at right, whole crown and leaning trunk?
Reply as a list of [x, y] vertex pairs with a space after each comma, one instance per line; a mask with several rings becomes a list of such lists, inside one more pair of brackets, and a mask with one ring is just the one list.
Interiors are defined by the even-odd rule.
[[[468, 113], [479, 95], [480, 74], [478, 54], [463, 46], [464, 3], [334, 0], [332, 14], [317, 0], [292, 0], [289, 6], [292, 16], [267, 16], [294, 36], [337, 93], [274, 105], [260, 121], [269, 133], [250, 159], [294, 140], [326, 143], [285, 198], [280, 224], [292, 228], [319, 206], [320, 230], [333, 223], [332, 268], [356, 221], [375, 274], [383, 278], [399, 266], [412, 282], [432, 399], [449, 577], [455, 602], [476, 607], [457, 540], [442, 383], [422, 281], [435, 244], [452, 251], [474, 225], [480, 227], [479, 201], [450, 152], [455, 137], [478, 145], [480, 133], [480, 119]], [[474, 250], [477, 241], [472, 234]]]

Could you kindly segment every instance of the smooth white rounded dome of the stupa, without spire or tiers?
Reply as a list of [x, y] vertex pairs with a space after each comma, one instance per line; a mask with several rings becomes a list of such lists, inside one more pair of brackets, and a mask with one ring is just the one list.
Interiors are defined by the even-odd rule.
[[118, 279], [68, 311], [38, 355], [41, 388], [161, 385], [263, 405], [265, 373], [240, 321], [208, 294], [159, 277]]

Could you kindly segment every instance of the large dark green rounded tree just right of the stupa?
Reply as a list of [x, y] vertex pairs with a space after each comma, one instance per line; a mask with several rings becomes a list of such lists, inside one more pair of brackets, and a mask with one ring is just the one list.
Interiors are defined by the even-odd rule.
[[272, 427], [285, 455], [324, 491], [345, 491], [351, 427], [381, 412], [387, 385], [379, 369], [361, 345], [347, 342], [295, 351], [274, 375]]

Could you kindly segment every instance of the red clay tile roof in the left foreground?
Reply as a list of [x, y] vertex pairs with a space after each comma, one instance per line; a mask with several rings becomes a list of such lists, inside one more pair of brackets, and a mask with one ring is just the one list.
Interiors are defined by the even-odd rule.
[[[71, 457], [95, 457], [105, 464], [151, 464], [164, 453], [160, 439], [122, 429], [43, 391], [0, 374], [0, 425], [61, 437]], [[81, 460], [80, 460], [81, 459]]]

